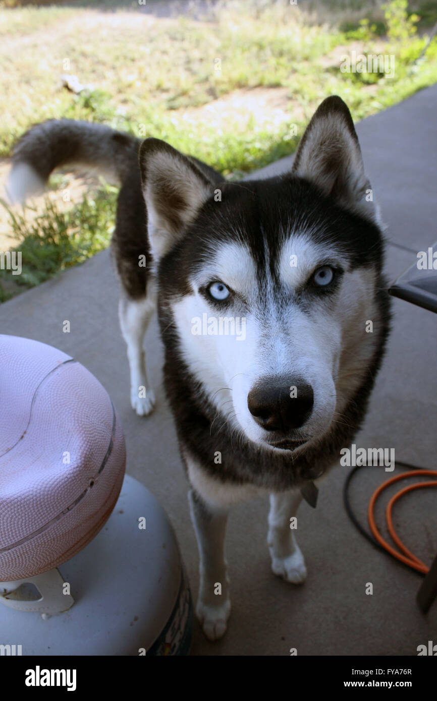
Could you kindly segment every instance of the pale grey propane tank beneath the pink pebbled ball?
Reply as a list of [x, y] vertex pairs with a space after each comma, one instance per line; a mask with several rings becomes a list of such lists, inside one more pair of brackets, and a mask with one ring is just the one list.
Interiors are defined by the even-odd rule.
[[0, 604], [0, 646], [22, 655], [189, 653], [194, 616], [177, 541], [159, 502], [132, 477], [102, 531], [58, 570], [72, 608], [42, 617]]

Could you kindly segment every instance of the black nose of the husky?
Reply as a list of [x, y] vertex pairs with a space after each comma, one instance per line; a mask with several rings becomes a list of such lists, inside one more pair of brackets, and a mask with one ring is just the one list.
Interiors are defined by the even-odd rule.
[[287, 433], [303, 426], [314, 404], [311, 385], [302, 380], [266, 378], [248, 394], [248, 408], [255, 421], [267, 431]]

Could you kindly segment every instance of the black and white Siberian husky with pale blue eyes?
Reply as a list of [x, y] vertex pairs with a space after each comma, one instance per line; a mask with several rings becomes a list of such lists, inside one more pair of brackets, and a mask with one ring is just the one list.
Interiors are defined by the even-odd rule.
[[11, 199], [74, 162], [113, 170], [121, 182], [112, 249], [140, 415], [154, 406], [142, 341], [157, 299], [199, 543], [196, 613], [215, 640], [231, 608], [229, 508], [270, 494], [271, 567], [302, 582], [290, 518], [301, 489], [351, 443], [382, 360], [384, 241], [354, 123], [346, 104], [328, 97], [290, 172], [234, 183], [159, 139], [48, 121], [15, 148]]

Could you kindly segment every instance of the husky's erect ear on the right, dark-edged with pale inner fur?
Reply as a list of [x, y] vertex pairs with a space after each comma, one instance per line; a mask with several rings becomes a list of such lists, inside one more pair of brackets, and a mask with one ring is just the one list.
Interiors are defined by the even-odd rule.
[[341, 97], [327, 97], [316, 109], [300, 139], [292, 172], [314, 182], [347, 209], [379, 224], [354, 122]]

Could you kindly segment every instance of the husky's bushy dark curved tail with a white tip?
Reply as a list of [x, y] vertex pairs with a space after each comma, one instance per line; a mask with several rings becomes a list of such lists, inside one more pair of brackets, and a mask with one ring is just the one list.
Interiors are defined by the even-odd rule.
[[137, 167], [140, 139], [102, 124], [51, 119], [22, 135], [12, 155], [6, 184], [11, 203], [41, 193], [49, 175], [63, 165], [86, 165], [123, 182]]

